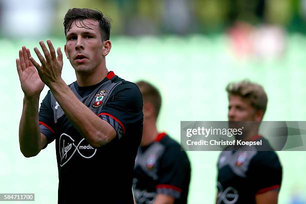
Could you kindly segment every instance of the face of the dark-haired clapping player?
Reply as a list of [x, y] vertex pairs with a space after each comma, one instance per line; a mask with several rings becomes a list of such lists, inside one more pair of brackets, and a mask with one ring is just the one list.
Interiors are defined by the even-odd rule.
[[[84, 27], [84, 25], [86, 27]], [[77, 73], [90, 73], [102, 65], [105, 42], [97, 20], [76, 19], [66, 34], [65, 53]]]

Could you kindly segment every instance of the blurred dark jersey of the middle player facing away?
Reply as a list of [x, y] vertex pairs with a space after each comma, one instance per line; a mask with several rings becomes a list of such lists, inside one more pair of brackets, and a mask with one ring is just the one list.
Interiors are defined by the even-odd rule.
[[139, 146], [134, 167], [133, 191], [137, 204], [153, 203], [158, 193], [186, 203], [190, 182], [190, 163], [181, 146], [166, 133]]

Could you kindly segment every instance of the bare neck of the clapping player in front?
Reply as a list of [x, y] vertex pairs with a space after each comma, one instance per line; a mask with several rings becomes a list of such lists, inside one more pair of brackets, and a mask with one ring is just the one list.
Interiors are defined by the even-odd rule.
[[106, 66], [97, 67], [95, 71], [90, 73], [75, 72], [77, 84], [78, 86], [89, 86], [97, 84], [106, 77], [107, 72], [108, 70]]

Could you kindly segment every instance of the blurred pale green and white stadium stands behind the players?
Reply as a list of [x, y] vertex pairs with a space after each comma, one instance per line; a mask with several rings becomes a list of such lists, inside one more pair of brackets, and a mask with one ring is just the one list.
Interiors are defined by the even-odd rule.
[[[306, 120], [306, 0], [0, 0], [0, 193], [57, 201], [55, 142], [33, 158], [19, 151], [23, 93], [15, 58], [22, 45], [32, 50], [41, 39], [63, 50], [62, 22], [71, 7], [98, 8], [111, 17], [108, 69], [160, 89], [158, 127], [178, 141], [180, 120], [226, 120], [225, 85], [244, 78], [267, 91], [264, 120]], [[62, 77], [75, 80], [67, 59]], [[277, 153], [279, 203], [306, 203], [306, 152]], [[218, 154], [188, 152], [189, 203], [214, 203]]]

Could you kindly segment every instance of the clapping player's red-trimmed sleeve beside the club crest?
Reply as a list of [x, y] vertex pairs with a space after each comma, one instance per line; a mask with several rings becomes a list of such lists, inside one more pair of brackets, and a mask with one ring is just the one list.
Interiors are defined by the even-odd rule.
[[109, 99], [98, 113], [117, 132], [119, 139], [129, 125], [142, 121], [142, 96], [139, 88], [131, 82], [123, 82], [114, 88]]

